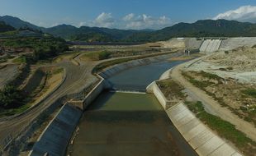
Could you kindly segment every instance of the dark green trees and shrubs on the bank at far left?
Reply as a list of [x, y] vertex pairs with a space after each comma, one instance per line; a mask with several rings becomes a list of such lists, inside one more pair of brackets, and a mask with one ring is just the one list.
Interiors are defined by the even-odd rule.
[[5, 115], [13, 115], [27, 108], [27, 99], [24, 99], [24, 91], [19, 86], [31, 72], [31, 64], [55, 57], [68, 50], [69, 46], [64, 39], [43, 34], [41, 37], [8, 37], [0, 39], [0, 44], [2, 53], [16, 56], [13, 62], [21, 64], [20, 74], [0, 91], [0, 108], [8, 112]]

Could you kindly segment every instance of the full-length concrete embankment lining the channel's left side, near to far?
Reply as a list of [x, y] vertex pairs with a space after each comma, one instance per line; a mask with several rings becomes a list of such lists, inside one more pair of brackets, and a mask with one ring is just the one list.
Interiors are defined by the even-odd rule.
[[[73, 131], [78, 124], [83, 110], [88, 107], [94, 99], [97, 98], [102, 90], [109, 89], [111, 86], [108, 84], [105, 77], [112, 76], [118, 71], [126, 70], [129, 67], [140, 66], [148, 64], [150, 62], [157, 62], [164, 60], [168, 57], [177, 57], [181, 53], [173, 53], [159, 57], [151, 57], [131, 62], [125, 62], [114, 67], [108, 68], [99, 74], [100, 82], [88, 93], [85, 99], [82, 101], [75, 101], [70, 104], [64, 105], [60, 109], [55, 119], [50, 122], [49, 126], [45, 128], [45, 131], [40, 136], [39, 140], [34, 145], [30, 155], [43, 155], [48, 153], [50, 155], [64, 155], [69, 140], [73, 135]], [[103, 77], [102, 77], [103, 75]]]

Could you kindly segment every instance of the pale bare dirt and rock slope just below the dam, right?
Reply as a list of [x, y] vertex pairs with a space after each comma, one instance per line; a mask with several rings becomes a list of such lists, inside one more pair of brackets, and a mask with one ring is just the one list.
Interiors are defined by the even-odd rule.
[[206, 71], [240, 83], [256, 84], [256, 48], [213, 53], [192, 64], [188, 71]]

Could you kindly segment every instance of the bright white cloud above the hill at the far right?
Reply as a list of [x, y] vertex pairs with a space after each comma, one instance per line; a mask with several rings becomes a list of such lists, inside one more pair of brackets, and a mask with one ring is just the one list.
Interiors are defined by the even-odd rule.
[[256, 22], [256, 6], [242, 6], [235, 10], [225, 11], [213, 18], [213, 20], [217, 19]]

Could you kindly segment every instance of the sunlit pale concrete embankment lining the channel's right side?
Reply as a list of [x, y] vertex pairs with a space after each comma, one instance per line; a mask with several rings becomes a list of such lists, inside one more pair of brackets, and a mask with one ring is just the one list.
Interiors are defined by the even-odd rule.
[[174, 126], [183, 135], [187, 143], [196, 150], [199, 155], [241, 155], [230, 146], [225, 140], [213, 133], [183, 104], [177, 103], [172, 107], [168, 106], [168, 100], [155, 82], [147, 87], [149, 93], [153, 93], [159, 103], [165, 109], [168, 117]]

